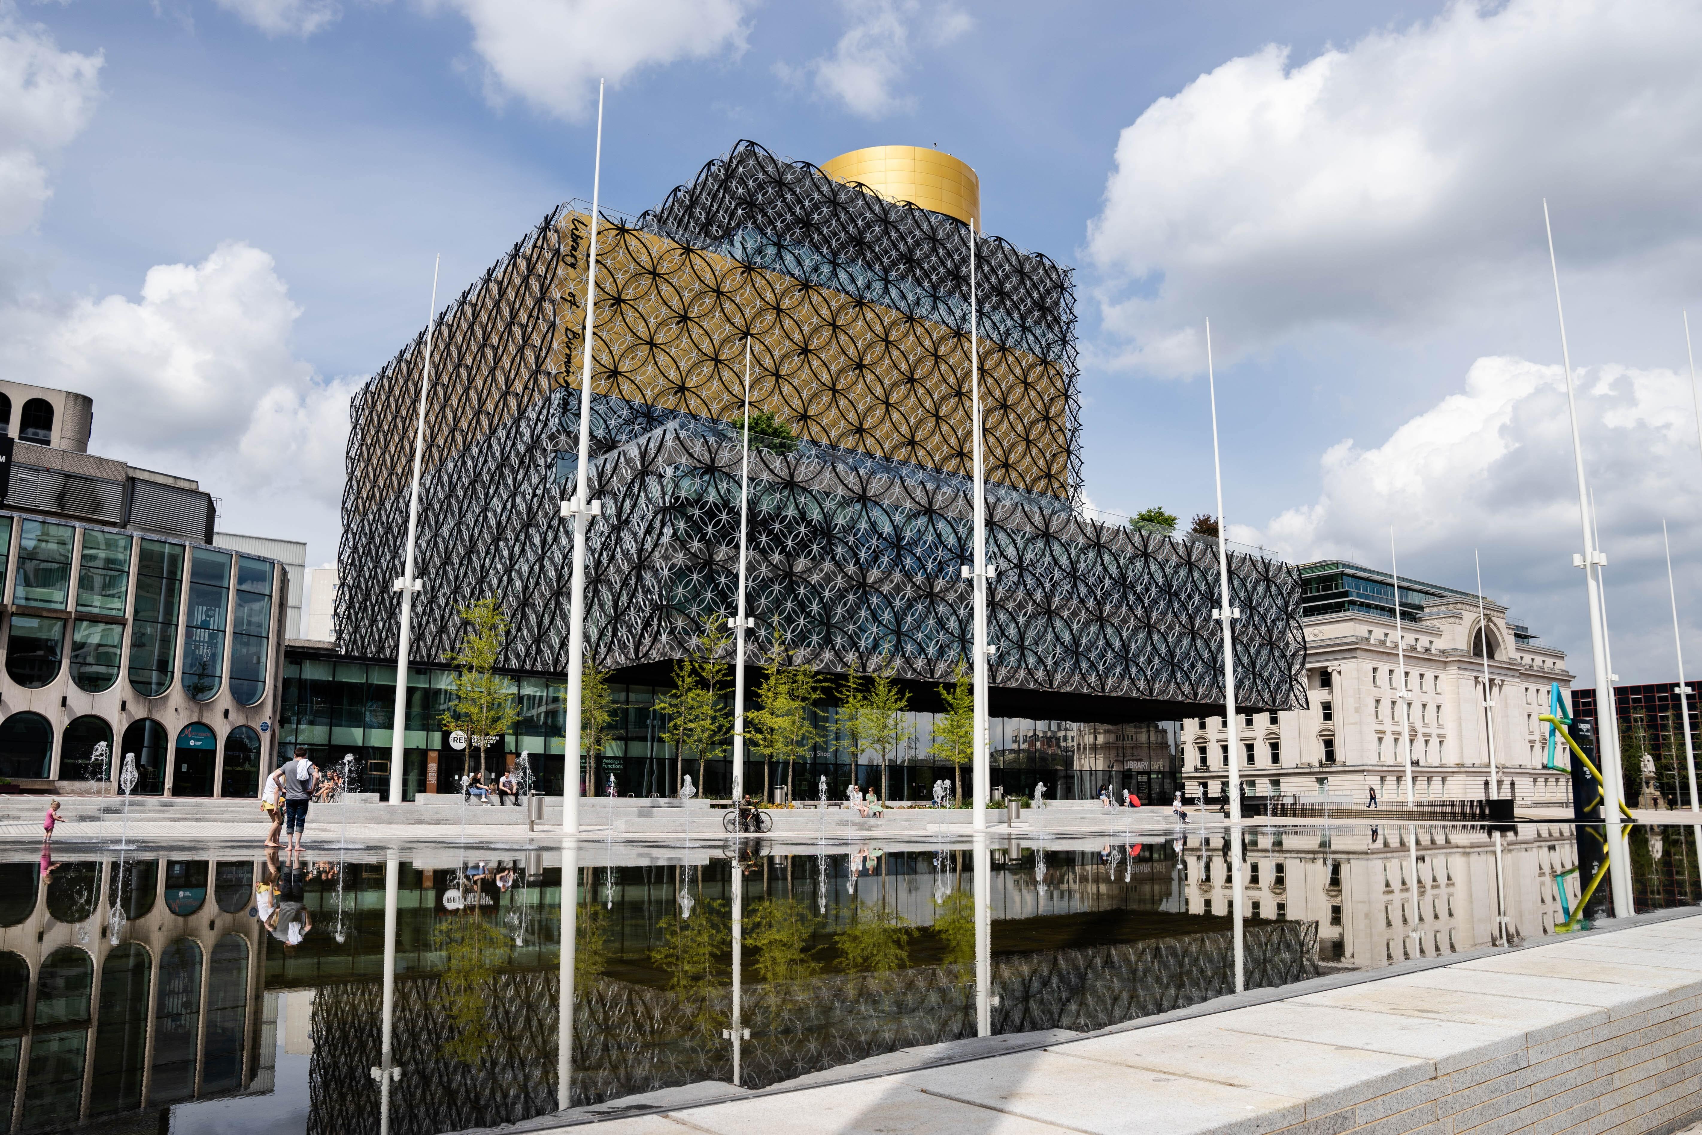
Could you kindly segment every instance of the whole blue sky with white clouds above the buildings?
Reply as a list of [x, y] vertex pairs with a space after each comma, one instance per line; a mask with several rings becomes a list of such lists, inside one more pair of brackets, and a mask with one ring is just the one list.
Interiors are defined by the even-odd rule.
[[225, 531], [335, 558], [347, 402], [555, 204], [751, 138], [958, 155], [1076, 269], [1084, 497], [1484, 590], [1593, 681], [1702, 665], [1702, 3], [0, 0], [0, 368]]

